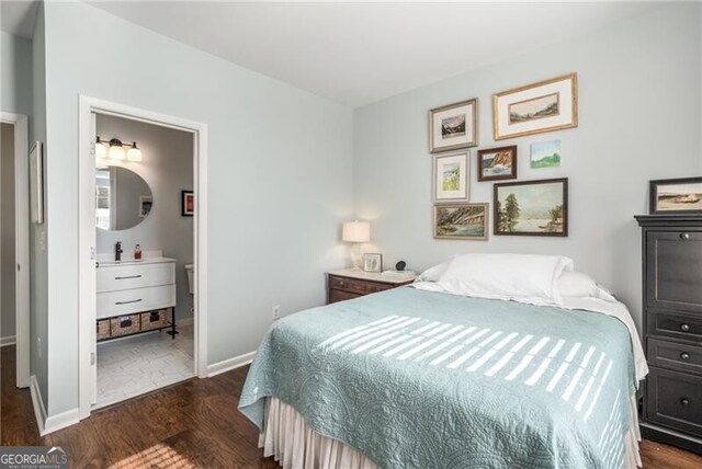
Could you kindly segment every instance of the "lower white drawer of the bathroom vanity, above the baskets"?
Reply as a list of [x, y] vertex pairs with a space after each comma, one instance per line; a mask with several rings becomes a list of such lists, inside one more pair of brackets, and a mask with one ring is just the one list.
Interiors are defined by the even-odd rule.
[[123, 316], [176, 305], [176, 285], [98, 294], [98, 319]]

